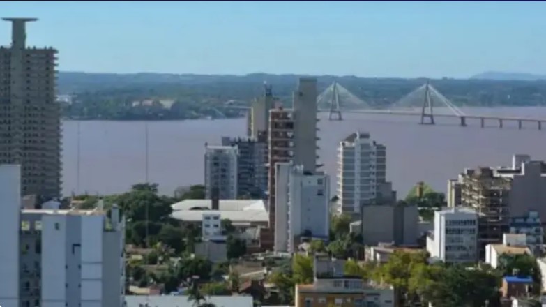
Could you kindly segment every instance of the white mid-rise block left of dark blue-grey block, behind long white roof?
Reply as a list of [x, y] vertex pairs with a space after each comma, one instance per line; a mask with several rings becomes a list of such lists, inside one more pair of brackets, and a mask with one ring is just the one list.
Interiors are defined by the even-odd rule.
[[205, 144], [205, 198], [211, 198], [214, 189], [220, 200], [237, 198], [237, 156], [236, 146]]

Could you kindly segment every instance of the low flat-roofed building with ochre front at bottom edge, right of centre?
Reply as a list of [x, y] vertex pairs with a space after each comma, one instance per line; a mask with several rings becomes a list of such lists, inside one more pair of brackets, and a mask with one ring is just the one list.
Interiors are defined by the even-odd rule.
[[296, 285], [295, 307], [392, 307], [393, 287], [372, 285], [343, 273], [344, 260], [314, 260], [314, 281]]

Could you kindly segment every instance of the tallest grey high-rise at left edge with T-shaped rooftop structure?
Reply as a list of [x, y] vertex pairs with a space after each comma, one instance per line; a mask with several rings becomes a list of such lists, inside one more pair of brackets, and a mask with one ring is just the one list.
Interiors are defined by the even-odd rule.
[[22, 167], [22, 195], [61, 194], [61, 109], [56, 103], [56, 53], [26, 46], [26, 22], [12, 22], [10, 47], [0, 47], [0, 163]]

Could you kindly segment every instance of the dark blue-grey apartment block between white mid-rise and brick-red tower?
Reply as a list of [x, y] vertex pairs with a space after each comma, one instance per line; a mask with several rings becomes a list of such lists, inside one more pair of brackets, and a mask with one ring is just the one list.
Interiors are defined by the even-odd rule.
[[222, 137], [222, 146], [238, 148], [237, 195], [238, 197], [261, 198], [267, 192], [267, 135], [258, 138]]

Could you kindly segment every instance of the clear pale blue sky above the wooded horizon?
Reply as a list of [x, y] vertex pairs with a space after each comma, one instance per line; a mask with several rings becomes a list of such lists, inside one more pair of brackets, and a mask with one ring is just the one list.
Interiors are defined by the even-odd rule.
[[[546, 3], [2, 2], [86, 72], [469, 77], [546, 73]], [[10, 41], [9, 24], [0, 43]]]

